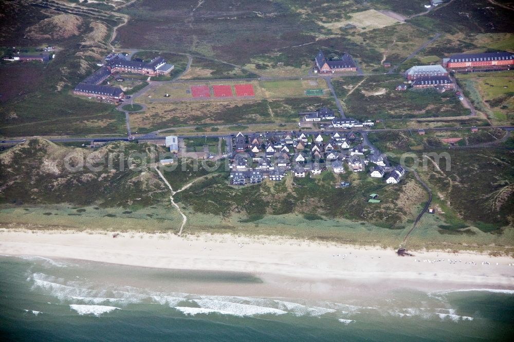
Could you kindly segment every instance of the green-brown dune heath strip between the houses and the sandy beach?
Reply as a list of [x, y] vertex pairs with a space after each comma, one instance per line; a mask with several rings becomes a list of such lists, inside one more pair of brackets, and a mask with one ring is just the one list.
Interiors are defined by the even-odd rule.
[[[482, 137], [477, 141], [489, 141], [485, 134]], [[397, 148], [409, 144], [408, 136], [386, 138], [381, 141], [390, 140]], [[407, 142], [401, 145], [395, 139]], [[421, 219], [410, 245], [455, 249], [488, 245], [487, 249], [507, 252], [513, 204], [509, 151], [478, 148], [473, 149], [472, 158], [467, 150], [435, 147], [426, 151], [448, 151], [452, 168], [446, 170], [443, 158], [430, 160], [426, 169], [419, 170], [432, 189], [435, 213]], [[146, 153], [144, 159], [141, 153]], [[118, 142], [91, 151], [29, 140], [1, 155], [1, 223], [80, 230], [119, 230], [122, 226], [124, 230], [176, 233], [181, 218], [169, 201], [167, 185], [154, 170], [155, 160], [163, 153], [149, 144]], [[122, 158], [130, 155], [134, 159]], [[423, 164], [419, 149], [411, 158]], [[92, 161], [98, 169], [80, 167], [81, 160]], [[398, 184], [386, 184], [366, 173], [323, 172], [304, 179], [288, 176], [280, 182], [234, 187], [229, 185], [225, 162], [217, 167], [210, 161], [195, 166], [193, 160], [179, 158], [176, 163], [174, 170], [162, 174], [175, 191], [193, 182], [174, 195], [188, 217], [185, 233], [214, 230], [393, 247], [407, 234], [428, 199], [412, 173]], [[76, 169], [66, 168], [67, 164]], [[352, 186], [335, 188], [340, 181]], [[381, 202], [369, 203], [371, 193], [378, 194]], [[476, 211], [478, 205], [484, 210]]]

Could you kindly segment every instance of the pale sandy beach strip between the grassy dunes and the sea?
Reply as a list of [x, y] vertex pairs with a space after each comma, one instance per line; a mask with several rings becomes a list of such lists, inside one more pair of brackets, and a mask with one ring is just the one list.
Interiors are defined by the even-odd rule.
[[[246, 272], [299, 294], [323, 296], [365, 285], [382, 291], [514, 289], [514, 259], [472, 253], [414, 252], [283, 237], [71, 231], [0, 231], [0, 254], [100, 261], [140, 267]], [[510, 264], [510, 265], [509, 265]], [[287, 279], [287, 280], [286, 280]], [[302, 284], [304, 284], [302, 286]], [[291, 289], [289, 289], [291, 290]], [[301, 293], [304, 295], [304, 293]]]

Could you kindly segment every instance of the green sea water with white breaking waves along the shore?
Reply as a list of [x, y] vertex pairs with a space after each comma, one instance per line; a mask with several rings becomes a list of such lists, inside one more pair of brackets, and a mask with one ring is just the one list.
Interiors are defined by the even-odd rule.
[[265, 285], [261, 278], [244, 273], [2, 256], [0, 338], [470, 341], [514, 337], [514, 291], [397, 289], [369, 298], [338, 294], [334, 301], [243, 296], [238, 291], [252, 292]]

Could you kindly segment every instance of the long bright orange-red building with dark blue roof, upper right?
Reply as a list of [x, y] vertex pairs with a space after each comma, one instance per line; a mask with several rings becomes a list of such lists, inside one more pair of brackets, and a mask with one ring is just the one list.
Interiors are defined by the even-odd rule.
[[450, 56], [444, 64], [450, 70], [505, 70], [514, 66], [514, 57], [510, 52], [463, 53]]

